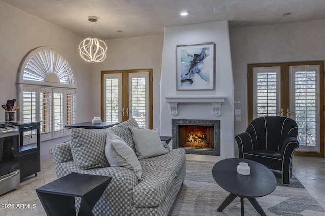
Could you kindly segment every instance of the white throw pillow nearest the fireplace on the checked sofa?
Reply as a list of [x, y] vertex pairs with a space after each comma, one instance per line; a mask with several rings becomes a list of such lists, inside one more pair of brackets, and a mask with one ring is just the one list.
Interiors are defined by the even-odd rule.
[[154, 157], [169, 152], [164, 147], [164, 141], [160, 140], [158, 132], [150, 129], [129, 127], [132, 132], [133, 142], [139, 159]]

